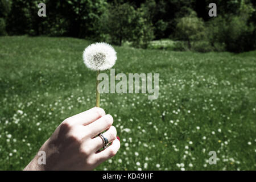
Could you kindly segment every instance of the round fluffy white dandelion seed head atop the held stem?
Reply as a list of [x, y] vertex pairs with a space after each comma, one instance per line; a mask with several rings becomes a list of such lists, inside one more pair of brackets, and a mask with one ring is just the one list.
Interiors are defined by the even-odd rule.
[[86, 47], [82, 55], [84, 64], [94, 71], [110, 69], [117, 60], [117, 53], [107, 43], [94, 43]]

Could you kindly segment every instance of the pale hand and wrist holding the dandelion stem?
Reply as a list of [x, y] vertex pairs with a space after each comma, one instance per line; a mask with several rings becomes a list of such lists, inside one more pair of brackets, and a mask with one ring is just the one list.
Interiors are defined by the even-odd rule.
[[[92, 170], [112, 158], [120, 148], [113, 117], [100, 107], [93, 107], [65, 119], [43, 144], [39, 151], [46, 152], [46, 164], [39, 164], [40, 156], [24, 170]], [[98, 134], [109, 140], [109, 147], [99, 151], [104, 143]]]

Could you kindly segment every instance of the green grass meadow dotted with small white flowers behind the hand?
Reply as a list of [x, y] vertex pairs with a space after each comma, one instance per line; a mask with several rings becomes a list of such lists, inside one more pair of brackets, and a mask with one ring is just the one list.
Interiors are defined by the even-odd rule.
[[[82, 62], [88, 44], [0, 37], [1, 170], [23, 169], [60, 122], [94, 106], [96, 73]], [[116, 74], [159, 73], [159, 97], [101, 94], [121, 148], [96, 170], [256, 170], [256, 51], [114, 48]]]

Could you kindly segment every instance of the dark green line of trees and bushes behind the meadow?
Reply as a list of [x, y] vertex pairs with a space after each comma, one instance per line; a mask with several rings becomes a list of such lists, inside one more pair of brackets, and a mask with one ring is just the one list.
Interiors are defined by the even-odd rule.
[[[46, 4], [46, 17], [38, 4]], [[208, 5], [217, 5], [210, 17]], [[71, 36], [147, 48], [172, 39], [179, 51], [243, 52], [256, 48], [255, 1], [0, 0], [0, 35]]]

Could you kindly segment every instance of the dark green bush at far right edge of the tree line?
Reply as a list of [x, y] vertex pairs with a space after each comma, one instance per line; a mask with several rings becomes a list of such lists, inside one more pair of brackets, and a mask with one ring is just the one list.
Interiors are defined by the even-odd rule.
[[214, 51], [250, 51], [255, 49], [255, 39], [255, 27], [241, 16], [219, 16], [208, 23], [208, 40]]

